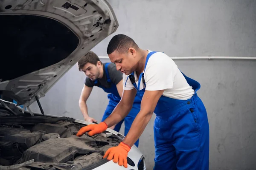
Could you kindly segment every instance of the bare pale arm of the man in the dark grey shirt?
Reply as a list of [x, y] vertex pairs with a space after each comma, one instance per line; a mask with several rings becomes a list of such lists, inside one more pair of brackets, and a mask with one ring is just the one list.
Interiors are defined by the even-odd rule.
[[80, 99], [79, 99], [79, 108], [84, 116], [84, 120], [87, 122], [97, 122], [95, 119], [91, 118], [88, 115], [88, 109], [86, 105], [87, 99], [90, 96], [90, 93], [92, 90], [93, 90], [92, 87], [88, 87], [87, 85], [84, 85], [81, 91]]

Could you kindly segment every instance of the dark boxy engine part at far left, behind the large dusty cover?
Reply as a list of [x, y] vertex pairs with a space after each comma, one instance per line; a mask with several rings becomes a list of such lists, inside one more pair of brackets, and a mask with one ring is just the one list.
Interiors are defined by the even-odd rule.
[[43, 133], [30, 132], [30, 130], [20, 128], [0, 127], [0, 136], [0, 141], [24, 143], [29, 148], [42, 138]]

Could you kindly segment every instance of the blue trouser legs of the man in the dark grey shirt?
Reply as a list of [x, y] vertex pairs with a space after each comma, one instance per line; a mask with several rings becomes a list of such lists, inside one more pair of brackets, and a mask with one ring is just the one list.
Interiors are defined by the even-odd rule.
[[[113, 101], [109, 101], [108, 106], [105, 110], [105, 113], [103, 114], [102, 117], [102, 121], [104, 121], [105, 119], [107, 119], [107, 117], [109, 115], [111, 115], [112, 111], [114, 110], [114, 108], [116, 107], [118, 103], [117, 102], [113, 102]], [[134, 103], [133, 107], [131, 108], [131, 111], [129, 112], [129, 114], [125, 117], [125, 119], [123, 119], [122, 121], [120, 121], [118, 124], [116, 124], [114, 130], [116, 132], [119, 132], [122, 123], [125, 122], [125, 136], [127, 135], [128, 131], [131, 128], [131, 124], [134, 121], [135, 117], [137, 116], [137, 114], [140, 112], [140, 103]], [[134, 143], [135, 146], [139, 146], [139, 139]]]

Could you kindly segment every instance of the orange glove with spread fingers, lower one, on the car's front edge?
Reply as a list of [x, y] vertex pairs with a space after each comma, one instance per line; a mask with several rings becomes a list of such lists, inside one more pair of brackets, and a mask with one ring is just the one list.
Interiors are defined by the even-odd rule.
[[109, 148], [103, 158], [108, 156], [107, 159], [110, 161], [114, 157], [113, 162], [119, 162], [120, 166], [124, 165], [127, 168], [127, 155], [130, 149], [130, 146], [121, 142], [118, 146]]

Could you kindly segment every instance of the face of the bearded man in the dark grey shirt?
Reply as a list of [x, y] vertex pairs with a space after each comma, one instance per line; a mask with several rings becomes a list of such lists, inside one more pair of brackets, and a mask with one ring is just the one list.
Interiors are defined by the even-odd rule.
[[97, 62], [96, 65], [91, 64], [90, 62], [87, 62], [86, 65], [81, 69], [81, 71], [84, 72], [84, 74], [91, 79], [92, 81], [98, 79], [99, 77], [99, 68], [101, 63]]

